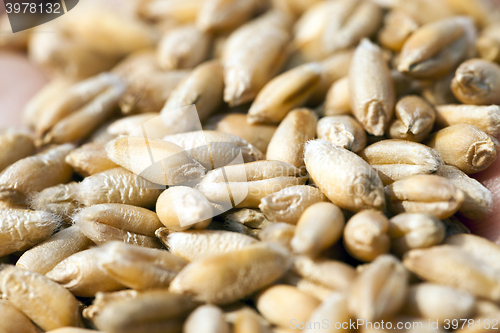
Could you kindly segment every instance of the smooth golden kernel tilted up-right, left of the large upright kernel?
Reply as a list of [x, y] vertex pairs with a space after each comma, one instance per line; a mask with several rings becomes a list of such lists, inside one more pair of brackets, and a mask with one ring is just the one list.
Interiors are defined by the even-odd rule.
[[269, 81], [255, 97], [248, 110], [248, 121], [279, 123], [290, 110], [302, 106], [321, 79], [322, 67], [307, 63], [295, 67]]

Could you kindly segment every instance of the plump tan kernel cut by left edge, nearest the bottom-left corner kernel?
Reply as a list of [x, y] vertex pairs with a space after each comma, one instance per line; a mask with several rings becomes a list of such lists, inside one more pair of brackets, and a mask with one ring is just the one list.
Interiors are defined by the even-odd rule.
[[76, 298], [41, 274], [3, 266], [0, 270], [0, 291], [5, 299], [45, 331], [82, 326]]

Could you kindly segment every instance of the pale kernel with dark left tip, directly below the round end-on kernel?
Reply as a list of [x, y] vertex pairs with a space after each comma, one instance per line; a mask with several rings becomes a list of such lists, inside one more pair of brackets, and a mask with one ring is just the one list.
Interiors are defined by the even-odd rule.
[[255, 238], [223, 230], [170, 232], [167, 228], [160, 228], [156, 231], [156, 236], [172, 254], [190, 262], [230, 253], [257, 243]]

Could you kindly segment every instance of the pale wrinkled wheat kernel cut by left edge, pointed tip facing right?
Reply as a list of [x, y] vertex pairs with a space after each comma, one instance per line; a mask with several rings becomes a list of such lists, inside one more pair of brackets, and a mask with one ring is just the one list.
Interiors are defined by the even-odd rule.
[[0, 209], [0, 257], [44, 241], [60, 224], [60, 218], [48, 212]]

